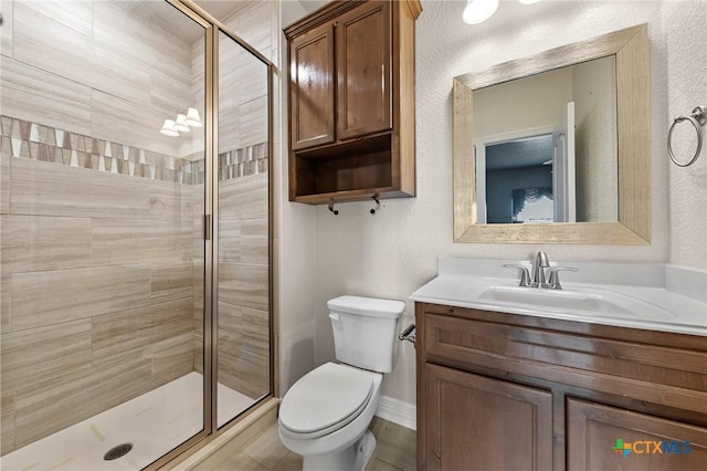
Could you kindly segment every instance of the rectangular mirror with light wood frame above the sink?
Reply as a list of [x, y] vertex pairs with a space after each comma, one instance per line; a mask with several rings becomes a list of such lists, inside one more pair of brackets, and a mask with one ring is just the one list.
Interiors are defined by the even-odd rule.
[[647, 25], [457, 76], [453, 109], [455, 242], [650, 243]]

